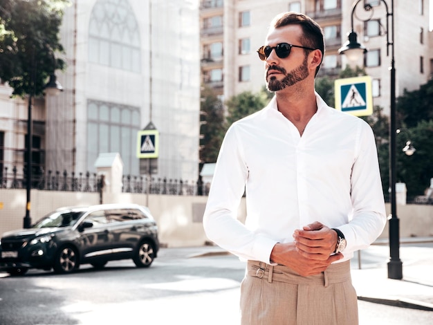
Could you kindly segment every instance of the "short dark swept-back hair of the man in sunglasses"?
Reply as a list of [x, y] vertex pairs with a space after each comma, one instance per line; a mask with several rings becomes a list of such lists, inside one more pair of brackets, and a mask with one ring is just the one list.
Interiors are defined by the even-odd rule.
[[[323, 30], [310, 17], [300, 14], [299, 12], [282, 12], [277, 15], [270, 23], [270, 27], [279, 28], [287, 25], [300, 25], [303, 35], [300, 38], [302, 46], [308, 48], [317, 48], [322, 52], [322, 61], [324, 57], [324, 35]], [[308, 51], [308, 50], [305, 50]], [[317, 66], [315, 75], [319, 72], [322, 62]]]

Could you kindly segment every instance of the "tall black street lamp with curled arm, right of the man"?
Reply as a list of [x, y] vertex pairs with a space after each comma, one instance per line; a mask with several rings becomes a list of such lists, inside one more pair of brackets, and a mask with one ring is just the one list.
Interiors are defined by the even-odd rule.
[[[353, 16], [355, 15], [356, 6], [364, 0], [358, 0], [352, 5], [351, 13], [351, 32], [349, 33], [349, 41], [338, 50], [340, 54], [346, 54], [349, 59], [355, 61], [359, 55], [367, 52], [367, 49], [358, 43], [356, 32], [353, 30]], [[403, 263], [400, 260], [400, 225], [397, 217], [396, 206], [396, 69], [394, 66], [394, 0], [391, 0], [391, 8], [385, 0], [380, 0], [379, 4], [383, 3], [386, 9], [386, 31], [387, 35], [387, 55], [389, 55], [389, 46], [391, 46], [391, 102], [389, 113], [389, 187], [391, 189], [391, 214], [389, 220], [389, 261], [388, 261], [388, 277], [389, 279], [403, 279]], [[371, 12], [367, 19], [359, 19], [367, 22], [373, 17], [374, 7], [369, 3], [364, 4], [364, 10]], [[389, 39], [389, 19], [391, 19], [391, 40]]]

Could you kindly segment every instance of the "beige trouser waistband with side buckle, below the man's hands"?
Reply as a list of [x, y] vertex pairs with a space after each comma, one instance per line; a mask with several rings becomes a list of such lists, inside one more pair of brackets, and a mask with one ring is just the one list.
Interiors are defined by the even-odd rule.
[[327, 287], [329, 284], [339, 284], [351, 280], [350, 261], [331, 264], [324, 272], [318, 275], [302, 277], [287, 266], [248, 261], [247, 275], [259, 279], [267, 279], [268, 282], [279, 281], [289, 284], [308, 284]]

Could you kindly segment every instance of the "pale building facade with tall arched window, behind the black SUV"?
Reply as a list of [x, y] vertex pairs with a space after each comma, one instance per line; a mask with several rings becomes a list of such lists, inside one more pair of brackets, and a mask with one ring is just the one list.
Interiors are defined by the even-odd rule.
[[[99, 154], [120, 154], [138, 176], [137, 133], [160, 134], [154, 176], [199, 173], [199, 1], [74, 0], [61, 28], [64, 91], [33, 105], [33, 169], [95, 172]], [[26, 100], [0, 85], [2, 171], [24, 167]]]

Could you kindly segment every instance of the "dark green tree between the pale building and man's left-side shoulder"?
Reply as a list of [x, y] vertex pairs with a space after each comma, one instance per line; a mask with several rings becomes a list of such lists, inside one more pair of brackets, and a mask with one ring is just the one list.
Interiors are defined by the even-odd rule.
[[210, 88], [201, 93], [200, 161], [215, 163], [224, 136], [224, 106]]

